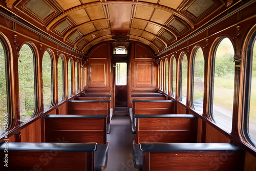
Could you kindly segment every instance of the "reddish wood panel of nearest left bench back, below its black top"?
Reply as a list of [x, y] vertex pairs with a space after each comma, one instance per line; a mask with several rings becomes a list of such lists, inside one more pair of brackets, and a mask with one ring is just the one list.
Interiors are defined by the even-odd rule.
[[[17, 152], [8, 151], [8, 170], [94, 170], [87, 167], [87, 157], [94, 152]], [[3, 153], [2, 153], [3, 154]], [[1, 155], [2, 156], [2, 155]], [[1, 157], [2, 158], [2, 157]], [[92, 158], [91, 158], [92, 159]], [[94, 163], [94, 160], [90, 161]], [[6, 170], [4, 164], [1, 170]]]

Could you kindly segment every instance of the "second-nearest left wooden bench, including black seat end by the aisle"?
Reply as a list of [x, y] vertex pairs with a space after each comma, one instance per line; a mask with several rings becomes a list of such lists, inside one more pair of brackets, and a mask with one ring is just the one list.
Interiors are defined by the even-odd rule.
[[106, 115], [46, 115], [45, 142], [96, 142], [95, 170], [104, 170], [108, 163]]

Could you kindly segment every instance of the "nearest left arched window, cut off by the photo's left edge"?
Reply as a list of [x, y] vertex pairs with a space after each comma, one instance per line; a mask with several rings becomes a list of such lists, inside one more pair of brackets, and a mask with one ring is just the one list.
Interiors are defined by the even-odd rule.
[[[7, 131], [11, 114], [8, 110], [9, 81], [8, 81], [8, 53], [4, 40], [0, 37], [0, 136]], [[7, 127], [5, 127], [7, 126]]]

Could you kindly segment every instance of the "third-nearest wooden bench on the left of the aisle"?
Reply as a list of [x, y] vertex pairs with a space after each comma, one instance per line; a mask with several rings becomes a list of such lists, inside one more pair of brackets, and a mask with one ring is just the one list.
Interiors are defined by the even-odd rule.
[[68, 102], [70, 115], [107, 115], [106, 133], [110, 133], [111, 100], [71, 100]]

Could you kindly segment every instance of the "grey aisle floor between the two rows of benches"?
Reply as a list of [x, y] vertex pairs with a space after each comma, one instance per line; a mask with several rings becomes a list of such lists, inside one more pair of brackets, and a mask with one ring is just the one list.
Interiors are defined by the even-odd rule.
[[127, 113], [116, 113], [111, 120], [111, 134], [107, 135], [110, 143], [108, 166], [106, 171], [136, 171], [133, 165], [133, 141], [130, 118]]

